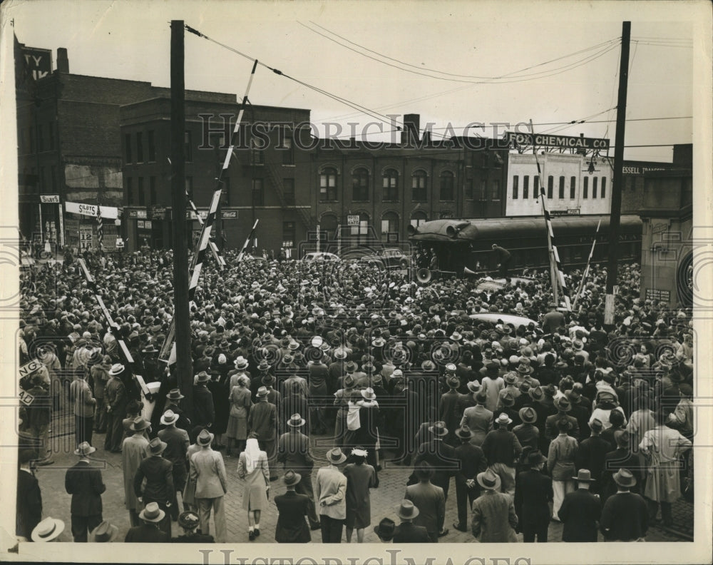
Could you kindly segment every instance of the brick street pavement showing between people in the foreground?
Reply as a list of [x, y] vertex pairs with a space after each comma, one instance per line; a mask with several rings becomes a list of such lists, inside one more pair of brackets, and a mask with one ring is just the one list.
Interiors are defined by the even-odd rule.
[[[70, 419], [55, 419], [53, 422], [55, 430], [53, 435], [53, 459], [54, 464], [39, 467], [37, 477], [42, 489], [43, 515], [52, 516], [65, 521], [66, 529], [61, 534], [59, 541], [71, 541], [70, 524], [70, 495], [64, 489], [64, 475], [66, 469], [76, 462], [76, 457], [72, 454], [74, 449], [73, 433], [71, 433]], [[106, 484], [106, 492], [102, 496], [103, 517], [116, 524], [119, 528], [119, 539], [123, 539], [129, 528], [128, 511], [123, 503], [123, 473], [121, 471], [120, 454], [105, 453], [103, 450], [103, 434], [95, 434], [93, 444], [97, 447], [94, 454], [94, 464], [102, 468], [102, 476]], [[312, 447], [314, 455], [319, 456], [329, 449], [329, 439], [327, 437], [312, 437]], [[225, 453], [225, 452], [222, 452]], [[225, 454], [224, 454], [225, 457]], [[321, 464], [317, 462], [316, 468]], [[227, 470], [229, 489], [225, 495], [225, 514], [227, 521], [228, 540], [230, 542], [247, 542], [247, 513], [242, 509], [242, 487], [241, 480], [237, 477], [237, 457], [225, 457], [225, 467]], [[380, 485], [378, 489], [371, 490], [371, 526], [379, 523], [381, 518], [390, 517], [396, 523], [396, 508], [399, 506], [406, 489], [406, 479], [411, 469], [409, 467], [399, 467], [391, 463], [386, 463], [386, 468], [379, 472]], [[313, 473], [313, 477], [314, 477]], [[282, 469], [280, 469], [282, 475]], [[275, 494], [282, 494], [285, 487], [282, 481], [272, 482], [270, 489], [270, 507], [272, 511], [262, 512], [260, 519], [261, 536], [255, 544], [275, 543], [275, 525], [277, 523], [277, 509], [272, 499]], [[441, 543], [469, 543], [474, 541], [471, 532], [457, 531], [453, 529], [453, 521], [456, 521], [456, 498], [455, 485], [451, 484], [451, 489], [446, 502], [446, 527], [450, 530], [448, 535], [441, 538]], [[676, 531], [662, 528], [656, 525], [649, 529], [647, 541], [689, 541], [692, 539], [693, 510], [692, 505], [684, 501], [674, 504], [674, 519], [677, 523]], [[211, 521], [211, 531], [214, 531]], [[173, 523], [172, 534], [180, 534], [178, 525]], [[550, 522], [548, 539], [549, 541], [560, 541], [562, 538], [562, 524]], [[312, 541], [321, 543], [322, 538], [319, 531], [312, 531]], [[343, 538], [346, 541], [346, 536]], [[366, 543], [378, 543], [379, 539], [374, 534], [373, 527], [366, 529], [364, 536]], [[518, 541], [522, 541], [522, 535], [518, 534]], [[602, 537], [600, 536], [600, 541]], [[356, 535], [352, 540], [356, 543]]]

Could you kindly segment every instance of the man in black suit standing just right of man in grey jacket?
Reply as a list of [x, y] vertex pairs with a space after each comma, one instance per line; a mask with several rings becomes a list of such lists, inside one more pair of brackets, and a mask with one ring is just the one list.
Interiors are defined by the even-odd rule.
[[537, 449], [528, 453], [527, 469], [515, 479], [515, 512], [518, 527], [523, 532], [523, 541], [538, 543], [547, 541], [550, 525], [550, 504], [553, 499], [552, 479], [542, 473], [545, 457]]

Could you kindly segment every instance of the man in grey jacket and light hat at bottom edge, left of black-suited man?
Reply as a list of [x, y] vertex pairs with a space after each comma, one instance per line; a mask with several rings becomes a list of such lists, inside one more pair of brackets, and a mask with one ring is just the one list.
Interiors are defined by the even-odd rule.
[[515, 514], [513, 497], [498, 492], [501, 479], [491, 469], [478, 473], [476, 481], [483, 494], [473, 502], [471, 531], [481, 544], [510, 543], [518, 541], [515, 529], [518, 516]]

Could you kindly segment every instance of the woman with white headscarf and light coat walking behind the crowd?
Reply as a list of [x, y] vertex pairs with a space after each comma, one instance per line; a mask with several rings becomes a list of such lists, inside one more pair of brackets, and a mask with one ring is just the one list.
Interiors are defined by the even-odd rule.
[[247, 510], [247, 536], [252, 541], [260, 536], [260, 512], [267, 510], [267, 492], [270, 490], [267, 453], [260, 451], [257, 437], [247, 439], [245, 451], [237, 462], [237, 476], [245, 481], [242, 509]]

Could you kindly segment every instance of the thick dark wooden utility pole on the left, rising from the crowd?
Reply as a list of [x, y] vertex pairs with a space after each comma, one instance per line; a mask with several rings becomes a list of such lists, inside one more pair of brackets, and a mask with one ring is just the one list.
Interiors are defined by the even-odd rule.
[[185, 409], [193, 412], [193, 362], [188, 307], [188, 230], [185, 210], [185, 76], [183, 20], [171, 21], [171, 206], [173, 217], [173, 301], [177, 382]]

